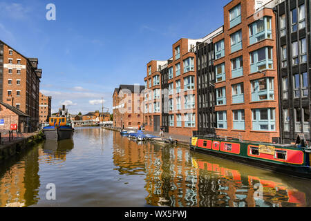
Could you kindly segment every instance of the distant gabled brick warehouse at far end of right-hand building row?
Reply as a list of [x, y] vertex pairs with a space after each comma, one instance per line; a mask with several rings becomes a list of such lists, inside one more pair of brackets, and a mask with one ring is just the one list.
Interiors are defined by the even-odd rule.
[[120, 85], [113, 92], [113, 126], [117, 128], [139, 128], [142, 126], [141, 95], [144, 86]]

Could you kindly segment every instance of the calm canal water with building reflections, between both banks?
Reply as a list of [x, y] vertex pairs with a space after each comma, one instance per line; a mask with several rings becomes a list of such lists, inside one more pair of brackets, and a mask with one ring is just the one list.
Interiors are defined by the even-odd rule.
[[311, 206], [310, 186], [103, 128], [76, 128], [73, 140], [42, 142], [0, 166], [0, 206]]

